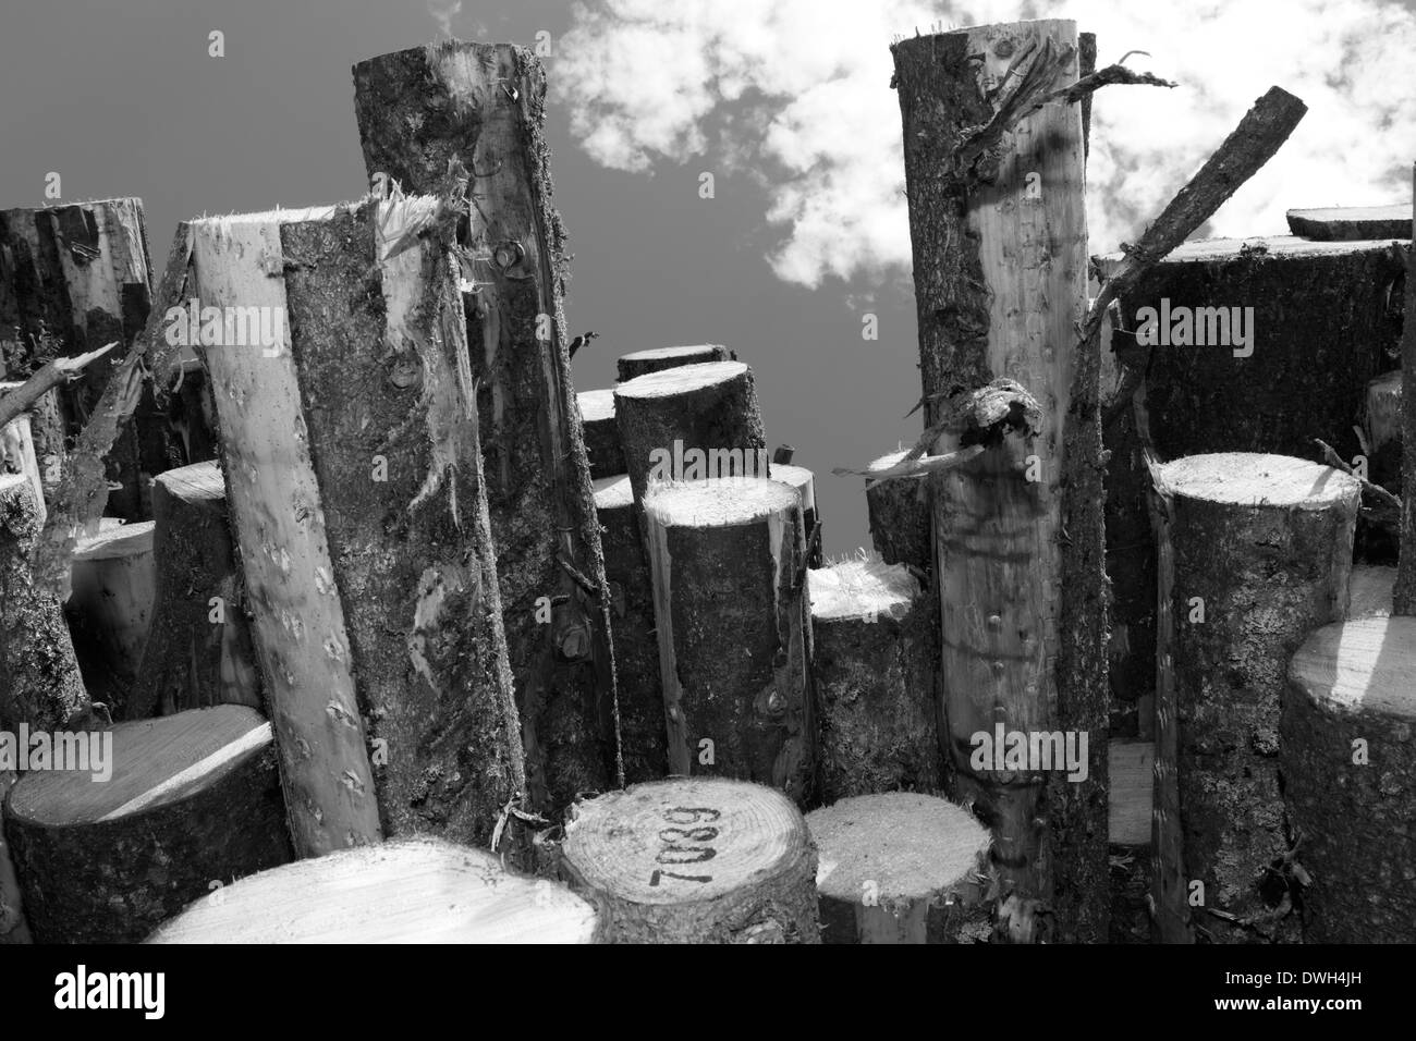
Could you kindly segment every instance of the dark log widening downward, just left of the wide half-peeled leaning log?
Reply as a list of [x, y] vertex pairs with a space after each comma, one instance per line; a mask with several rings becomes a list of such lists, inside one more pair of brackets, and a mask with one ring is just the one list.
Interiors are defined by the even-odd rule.
[[127, 718], [236, 704], [261, 708], [261, 673], [215, 462], [153, 483], [157, 589]]

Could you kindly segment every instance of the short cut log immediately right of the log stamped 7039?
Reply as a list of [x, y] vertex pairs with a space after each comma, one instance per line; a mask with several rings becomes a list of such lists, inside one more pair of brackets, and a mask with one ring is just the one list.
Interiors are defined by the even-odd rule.
[[987, 940], [988, 829], [946, 799], [891, 792], [806, 817], [823, 943]]

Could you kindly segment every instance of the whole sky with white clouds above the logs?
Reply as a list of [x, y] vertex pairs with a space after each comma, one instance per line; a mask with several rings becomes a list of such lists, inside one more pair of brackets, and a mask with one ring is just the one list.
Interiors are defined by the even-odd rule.
[[365, 191], [355, 61], [548, 34], [566, 317], [600, 333], [576, 387], [609, 387], [627, 351], [726, 344], [752, 365], [769, 446], [817, 472], [826, 550], [844, 557], [868, 544], [865, 504], [831, 467], [919, 432], [902, 419], [919, 377], [889, 44], [1037, 17], [1096, 33], [1100, 65], [1146, 51], [1129, 67], [1180, 84], [1097, 95], [1092, 252], [1134, 238], [1270, 85], [1310, 112], [1204, 234], [1410, 198], [1416, 0], [48, 0], [0, 14], [0, 207], [41, 205], [51, 171], [64, 201], [139, 195], [160, 262], [178, 220]]

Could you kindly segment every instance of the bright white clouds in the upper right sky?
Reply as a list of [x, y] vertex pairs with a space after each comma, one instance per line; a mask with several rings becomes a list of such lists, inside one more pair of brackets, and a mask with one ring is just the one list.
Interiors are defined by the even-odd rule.
[[1039, 14], [1095, 31], [1100, 64], [1140, 48], [1153, 57], [1131, 68], [1181, 84], [1096, 96], [1093, 251], [1134, 238], [1274, 84], [1310, 112], [1212, 234], [1277, 234], [1291, 207], [1410, 195], [1416, 11], [1391, 0], [1073, 0], [1025, 13], [994, 0], [600, 0], [576, 7], [552, 82], [572, 132], [607, 167], [653, 173], [708, 156], [755, 173], [780, 231], [780, 278], [881, 282], [910, 263], [891, 38]]

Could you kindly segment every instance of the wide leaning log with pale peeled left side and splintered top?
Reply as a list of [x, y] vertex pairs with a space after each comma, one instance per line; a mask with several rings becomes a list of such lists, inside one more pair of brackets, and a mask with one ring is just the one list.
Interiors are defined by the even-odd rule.
[[193, 222], [205, 306], [287, 316], [201, 353], [302, 855], [487, 844], [525, 790], [440, 205]]

